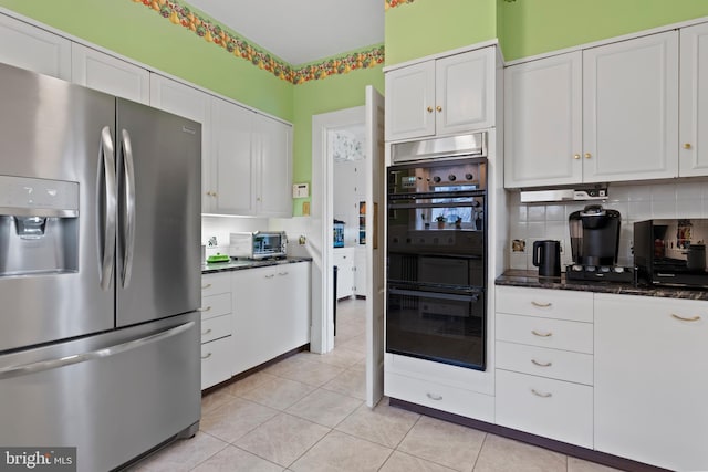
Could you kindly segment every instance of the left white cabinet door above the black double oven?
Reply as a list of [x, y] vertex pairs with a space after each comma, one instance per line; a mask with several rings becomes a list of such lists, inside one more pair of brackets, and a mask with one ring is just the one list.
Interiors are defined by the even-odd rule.
[[435, 134], [435, 61], [386, 73], [386, 140]]

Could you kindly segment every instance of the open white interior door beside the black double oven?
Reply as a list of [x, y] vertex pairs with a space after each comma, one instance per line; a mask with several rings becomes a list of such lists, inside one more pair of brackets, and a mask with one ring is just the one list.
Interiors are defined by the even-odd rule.
[[384, 97], [366, 87], [366, 405], [384, 396]]

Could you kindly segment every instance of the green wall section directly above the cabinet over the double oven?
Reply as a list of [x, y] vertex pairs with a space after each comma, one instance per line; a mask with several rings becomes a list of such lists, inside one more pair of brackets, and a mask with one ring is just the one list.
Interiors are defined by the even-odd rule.
[[388, 9], [385, 28], [386, 65], [399, 64], [497, 38], [497, 0], [415, 0]]

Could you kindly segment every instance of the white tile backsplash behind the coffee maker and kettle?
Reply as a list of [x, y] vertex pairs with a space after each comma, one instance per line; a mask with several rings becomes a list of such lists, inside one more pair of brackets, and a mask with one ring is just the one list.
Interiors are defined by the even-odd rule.
[[[622, 227], [617, 263], [633, 263], [634, 223], [653, 218], [708, 218], [708, 183], [680, 180], [662, 183], [610, 185], [603, 207], [620, 211]], [[593, 202], [521, 203], [518, 191], [509, 191], [509, 241], [525, 241], [525, 252], [508, 248], [510, 269], [535, 269], [532, 264], [533, 241], [560, 240], [563, 265], [572, 262], [568, 217]]]

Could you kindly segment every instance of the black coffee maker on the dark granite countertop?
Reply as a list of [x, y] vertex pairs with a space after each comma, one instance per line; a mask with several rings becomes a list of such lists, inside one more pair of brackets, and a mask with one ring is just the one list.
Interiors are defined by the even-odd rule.
[[617, 210], [589, 204], [569, 217], [573, 264], [585, 266], [614, 266], [620, 249]]

